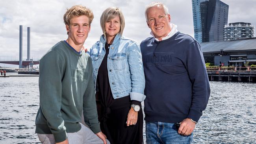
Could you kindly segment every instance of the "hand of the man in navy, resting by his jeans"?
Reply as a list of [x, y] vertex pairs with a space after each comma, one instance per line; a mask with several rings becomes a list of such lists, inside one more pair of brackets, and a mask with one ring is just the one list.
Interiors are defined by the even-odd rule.
[[178, 134], [180, 135], [190, 135], [195, 129], [195, 122], [192, 122], [189, 118], [186, 118], [180, 122], [180, 128], [178, 129]]

